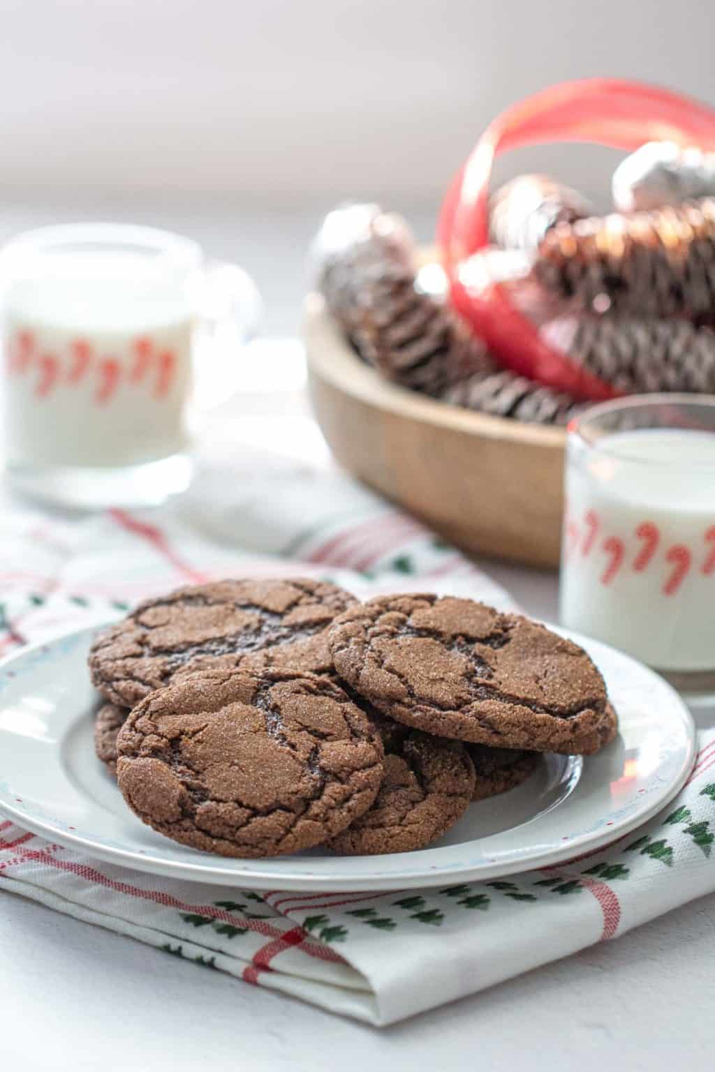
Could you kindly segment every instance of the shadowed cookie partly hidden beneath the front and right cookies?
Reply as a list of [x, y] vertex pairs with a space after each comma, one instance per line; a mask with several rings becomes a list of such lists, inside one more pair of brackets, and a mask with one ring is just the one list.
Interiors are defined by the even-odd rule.
[[385, 776], [372, 807], [330, 848], [343, 855], [423, 849], [464, 815], [474, 792], [472, 760], [459, 741], [446, 741], [377, 721]]

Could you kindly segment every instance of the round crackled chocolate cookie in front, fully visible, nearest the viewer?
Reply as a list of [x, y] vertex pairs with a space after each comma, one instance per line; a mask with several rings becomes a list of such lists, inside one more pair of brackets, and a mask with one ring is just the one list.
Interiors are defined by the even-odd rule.
[[224, 857], [336, 837], [383, 779], [367, 715], [328, 678], [205, 672], [158, 689], [117, 741], [117, 779], [148, 825]]

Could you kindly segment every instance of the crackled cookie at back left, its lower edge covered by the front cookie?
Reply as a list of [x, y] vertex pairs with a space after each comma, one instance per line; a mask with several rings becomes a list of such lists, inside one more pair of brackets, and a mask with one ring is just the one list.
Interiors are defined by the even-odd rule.
[[92, 683], [126, 708], [197, 670], [332, 670], [325, 628], [355, 602], [327, 582], [218, 581], [148, 599], [92, 644]]

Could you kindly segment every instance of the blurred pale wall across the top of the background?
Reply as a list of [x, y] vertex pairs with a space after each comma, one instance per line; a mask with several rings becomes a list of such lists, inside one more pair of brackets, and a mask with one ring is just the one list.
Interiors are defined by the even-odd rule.
[[0, 0], [0, 188], [432, 196], [550, 81], [715, 103], [714, 31], [715, 0]]

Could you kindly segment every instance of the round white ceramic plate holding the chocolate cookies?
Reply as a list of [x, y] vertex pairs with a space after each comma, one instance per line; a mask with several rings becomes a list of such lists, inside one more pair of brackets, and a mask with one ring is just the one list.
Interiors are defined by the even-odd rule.
[[695, 729], [657, 674], [596, 641], [558, 630], [598, 664], [621, 733], [587, 759], [545, 756], [526, 783], [472, 804], [429, 849], [386, 857], [323, 850], [224, 860], [145, 827], [94, 756], [98, 695], [83, 629], [0, 664], [0, 810], [90, 857], [182, 879], [272, 890], [394, 890], [496, 878], [605, 845], [655, 815], [684, 784]]

